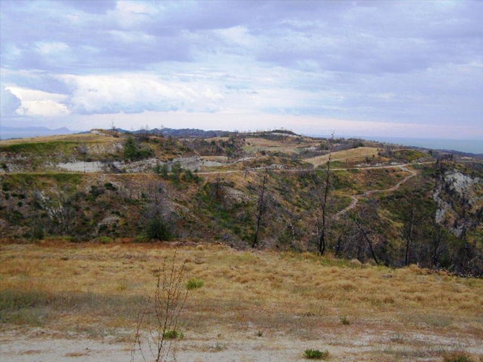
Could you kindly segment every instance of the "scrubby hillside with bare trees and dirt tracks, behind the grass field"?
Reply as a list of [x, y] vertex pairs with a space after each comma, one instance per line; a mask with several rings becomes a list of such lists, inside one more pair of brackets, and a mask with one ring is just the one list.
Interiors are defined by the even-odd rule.
[[194, 238], [298, 251], [323, 242], [361, 262], [483, 271], [478, 159], [285, 130], [93, 130], [1, 141], [0, 162], [4, 238]]

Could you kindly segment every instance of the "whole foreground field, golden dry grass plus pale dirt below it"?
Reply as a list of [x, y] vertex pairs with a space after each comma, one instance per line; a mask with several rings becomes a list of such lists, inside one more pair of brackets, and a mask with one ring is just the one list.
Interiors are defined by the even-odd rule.
[[[483, 355], [483, 280], [222, 245], [1, 245], [2, 361], [129, 361], [140, 308], [176, 250], [189, 292], [178, 361], [463, 361]], [[466, 360], [464, 360], [466, 361]]]

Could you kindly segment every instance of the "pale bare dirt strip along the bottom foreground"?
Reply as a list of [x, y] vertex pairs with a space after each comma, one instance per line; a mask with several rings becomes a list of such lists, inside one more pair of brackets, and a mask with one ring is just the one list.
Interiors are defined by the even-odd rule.
[[[307, 361], [303, 351], [309, 348], [328, 350], [330, 361], [440, 361], [442, 352], [455, 350], [482, 355], [481, 340], [438, 335], [428, 332], [395, 333], [391, 330], [344, 331], [322, 329], [313, 339], [294, 339], [284, 334], [252, 332], [227, 333], [214, 329], [208, 334], [189, 334], [171, 346], [169, 361], [249, 362]], [[1, 334], [2, 362], [128, 362], [131, 343], [115, 337], [89, 339], [82, 335], [55, 333], [40, 328], [10, 329]], [[146, 359], [149, 359], [149, 352]], [[143, 361], [138, 353], [134, 361]]]

